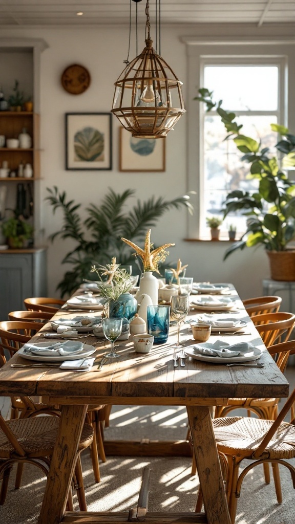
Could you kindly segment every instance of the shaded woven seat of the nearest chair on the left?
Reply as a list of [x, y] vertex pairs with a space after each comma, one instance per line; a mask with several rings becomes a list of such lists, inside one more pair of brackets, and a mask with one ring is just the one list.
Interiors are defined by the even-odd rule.
[[[33, 417], [13, 419], [6, 422], [22, 445], [27, 457], [44, 457], [52, 454], [59, 425], [55, 417]], [[93, 428], [85, 424], [79, 444], [79, 450], [91, 444]], [[13, 445], [0, 431], [0, 460], [18, 456]]]

